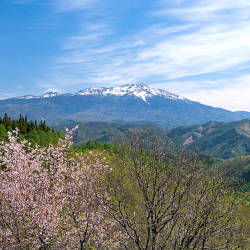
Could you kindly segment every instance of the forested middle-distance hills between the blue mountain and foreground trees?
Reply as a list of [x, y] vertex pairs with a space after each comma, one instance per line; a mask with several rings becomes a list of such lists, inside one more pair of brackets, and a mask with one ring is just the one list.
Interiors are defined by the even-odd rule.
[[[68, 121], [68, 125], [73, 127], [75, 123]], [[171, 143], [171, 150], [178, 148], [178, 145], [183, 145], [191, 152], [195, 150], [210, 167], [217, 165], [223, 170], [226, 179], [240, 178], [243, 181], [242, 190], [250, 190], [249, 120], [233, 123], [210, 122], [199, 126], [179, 127], [172, 131], [165, 131], [152, 125], [86, 122], [80, 124], [73, 140], [83, 151], [97, 149], [114, 152], [115, 146], [112, 143], [131, 133], [145, 131], [151, 131], [158, 139]], [[190, 137], [193, 141], [188, 140]], [[223, 160], [219, 157], [229, 159]]]

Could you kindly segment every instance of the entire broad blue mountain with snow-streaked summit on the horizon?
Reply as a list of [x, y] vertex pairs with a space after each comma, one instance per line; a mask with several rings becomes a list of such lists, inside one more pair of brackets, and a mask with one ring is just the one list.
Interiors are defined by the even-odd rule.
[[0, 101], [0, 116], [19, 114], [32, 120], [57, 124], [73, 121], [153, 124], [165, 129], [208, 121], [250, 119], [250, 112], [231, 112], [188, 100], [144, 84], [112, 88], [87, 88], [76, 94], [55, 92], [42, 96], [26, 95]]

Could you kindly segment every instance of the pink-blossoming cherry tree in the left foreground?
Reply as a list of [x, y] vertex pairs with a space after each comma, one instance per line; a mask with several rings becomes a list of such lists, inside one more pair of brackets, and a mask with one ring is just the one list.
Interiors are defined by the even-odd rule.
[[[18, 129], [0, 142], [1, 249], [83, 249], [119, 245], [119, 226], [107, 216], [100, 154], [72, 151], [67, 130], [58, 145], [31, 147]], [[100, 198], [101, 197], [101, 198]]]

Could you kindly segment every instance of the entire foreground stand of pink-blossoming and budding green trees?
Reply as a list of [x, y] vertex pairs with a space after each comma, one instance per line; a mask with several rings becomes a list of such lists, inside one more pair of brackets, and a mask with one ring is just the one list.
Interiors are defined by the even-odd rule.
[[195, 155], [145, 131], [81, 152], [74, 132], [0, 144], [3, 249], [247, 249], [249, 208]]

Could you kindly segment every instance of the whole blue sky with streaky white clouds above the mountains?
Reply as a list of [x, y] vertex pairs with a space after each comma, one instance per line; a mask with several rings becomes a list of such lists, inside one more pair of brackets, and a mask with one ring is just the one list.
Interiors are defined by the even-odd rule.
[[1, 99], [135, 82], [250, 111], [250, 1], [1, 0]]

